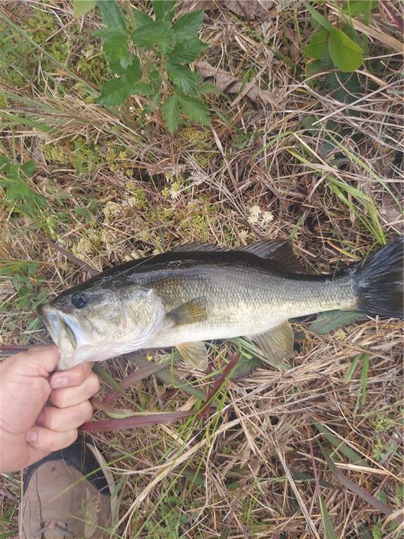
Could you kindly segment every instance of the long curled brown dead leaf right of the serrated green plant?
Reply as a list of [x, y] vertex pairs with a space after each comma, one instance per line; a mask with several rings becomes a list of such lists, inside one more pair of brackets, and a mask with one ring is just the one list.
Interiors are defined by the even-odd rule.
[[203, 79], [210, 79], [210, 82], [222, 92], [240, 93], [242, 91], [243, 94], [248, 95], [255, 102], [262, 101], [275, 107], [278, 106], [276, 95], [267, 90], [262, 90], [256, 84], [239, 82], [231, 73], [219, 67], [213, 67], [209, 62], [195, 62], [195, 67], [196, 71], [203, 76]]

